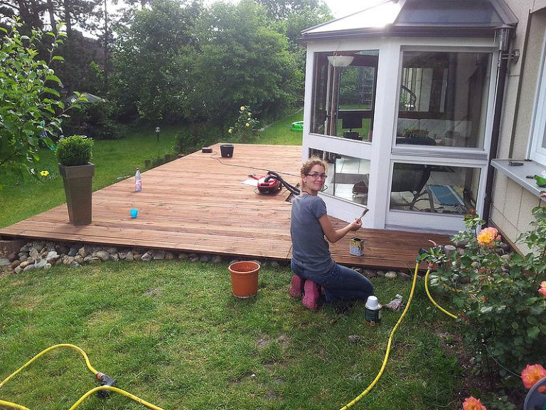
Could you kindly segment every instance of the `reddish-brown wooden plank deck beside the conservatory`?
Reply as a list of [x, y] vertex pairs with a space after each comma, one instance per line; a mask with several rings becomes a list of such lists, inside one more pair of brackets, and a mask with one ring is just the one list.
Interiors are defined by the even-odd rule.
[[[112, 246], [163, 248], [222, 256], [291, 257], [290, 209], [287, 191], [257, 194], [242, 184], [248, 174], [267, 170], [299, 181], [301, 147], [236, 144], [232, 158], [195, 152], [142, 174], [143, 189], [132, 178], [93, 194], [93, 223], [72, 226], [66, 206], [0, 229], [1, 238], [42, 238]], [[131, 219], [129, 209], [138, 208]], [[342, 221], [334, 220], [334, 225]], [[361, 229], [364, 255], [349, 253], [350, 235], [331, 245], [333, 258], [350, 266], [406, 268], [414, 266], [428, 239], [446, 243], [447, 236]]]

